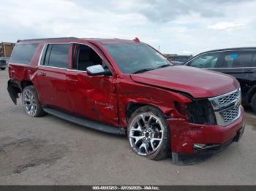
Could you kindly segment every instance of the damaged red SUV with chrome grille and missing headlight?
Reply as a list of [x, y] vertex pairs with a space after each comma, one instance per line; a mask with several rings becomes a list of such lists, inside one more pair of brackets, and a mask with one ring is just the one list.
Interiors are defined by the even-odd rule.
[[15, 44], [8, 91], [26, 114], [125, 135], [138, 155], [173, 163], [211, 154], [244, 131], [234, 77], [172, 64], [139, 39], [29, 39]]

